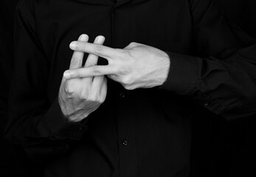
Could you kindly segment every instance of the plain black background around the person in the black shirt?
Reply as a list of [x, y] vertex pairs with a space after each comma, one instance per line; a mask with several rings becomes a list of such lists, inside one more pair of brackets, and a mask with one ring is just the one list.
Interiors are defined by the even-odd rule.
[[[0, 176], [38, 177], [42, 174], [40, 167], [30, 162], [21, 147], [3, 138], [13, 71], [13, 25], [17, 1], [1, 0], [0, 4]], [[256, 38], [256, 0], [215, 1], [229, 21]], [[255, 117], [226, 122], [205, 110], [201, 115], [193, 120], [190, 177], [255, 177]]]

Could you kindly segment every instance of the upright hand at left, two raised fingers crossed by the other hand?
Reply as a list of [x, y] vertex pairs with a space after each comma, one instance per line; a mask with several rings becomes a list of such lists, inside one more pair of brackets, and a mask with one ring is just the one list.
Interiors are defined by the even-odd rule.
[[[80, 35], [78, 41], [87, 42], [88, 35]], [[95, 44], [103, 44], [105, 38], [97, 36]], [[83, 63], [83, 52], [75, 51], [72, 55], [69, 69], [82, 69], [97, 64], [97, 55], [90, 54]], [[60, 84], [58, 101], [61, 111], [70, 122], [80, 122], [88, 117], [91, 112], [99, 108], [105, 100], [107, 93], [107, 80], [104, 76], [83, 77], [66, 80], [63, 77]]]

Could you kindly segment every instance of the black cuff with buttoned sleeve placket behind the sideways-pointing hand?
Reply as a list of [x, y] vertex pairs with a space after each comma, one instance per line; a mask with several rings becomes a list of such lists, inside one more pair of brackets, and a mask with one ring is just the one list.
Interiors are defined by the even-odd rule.
[[176, 94], [190, 95], [199, 105], [215, 114], [220, 114], [223, 107], [221, 101], [213, 101], [209, 94], [200, 91], [200, 58], [172, 52], [167, 52], [167, 55], [170, 58], [170, 70], [167, 80], [160, 89], [174, 91]]

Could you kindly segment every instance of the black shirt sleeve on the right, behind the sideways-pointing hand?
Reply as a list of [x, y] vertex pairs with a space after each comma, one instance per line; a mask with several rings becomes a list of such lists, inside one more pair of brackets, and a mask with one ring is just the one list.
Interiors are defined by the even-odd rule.
[[212, 0], [191, 0], [195, 55], [167, 52], [161, 89], [189, 95], [226, 119], [256, 114], [256, 44]]

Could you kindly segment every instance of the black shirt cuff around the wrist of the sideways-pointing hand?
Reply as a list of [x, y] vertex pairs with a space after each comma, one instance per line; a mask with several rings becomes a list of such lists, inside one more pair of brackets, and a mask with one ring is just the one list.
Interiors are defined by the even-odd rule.
[[189, 94], [200, 82], [196, 58], [172, 52], [167, 52], [167, 55], [170, 58], [170, 70], [167, 80], [160, 89], [175, 91], [177, 94]]

